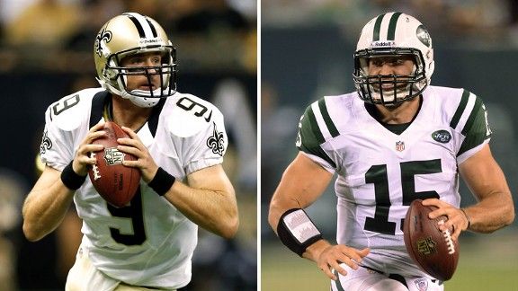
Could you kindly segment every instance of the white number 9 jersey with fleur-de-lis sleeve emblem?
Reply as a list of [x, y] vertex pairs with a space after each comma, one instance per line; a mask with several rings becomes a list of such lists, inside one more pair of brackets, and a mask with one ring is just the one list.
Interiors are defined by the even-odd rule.
[[[40, 146], [43, 163], [62, 171], [89, 128], [104, 119], [109, 98], [103, 89], [85, 89], [51, 104]], [[160, 101], [138, 137], [156, 164], [179, 181], [222, 163], [228, 145], [220, 111], [183, 93]], [[74, 202], [83, 219], [83, 245], [97, 269], [137, 286], [175, 289], [191, 280], [198, 226], [147, 183], [140, 181], [129, 207], [115, 208], [86, 179]]]

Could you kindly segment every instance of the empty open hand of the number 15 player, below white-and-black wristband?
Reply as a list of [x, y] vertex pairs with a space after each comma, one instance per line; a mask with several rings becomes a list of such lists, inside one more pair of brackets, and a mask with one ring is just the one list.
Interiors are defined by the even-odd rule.
[[358, 265], [362, 262], [362, 258], [369, 254], [370, 249], [357, 250], [344, 244], [332, 245], [329, 242], [320, 240], [308, 247], [308, 256], [313, 257], [317, 262], [318, 269], [321, 269], [328, 278], [337, 280], [338, 277], [333, 274], [336, 270], [341, 275], [347, 275], [347, 271], [340, 266], [341, 263], [346, 264], [352, 269], [358, 269]]

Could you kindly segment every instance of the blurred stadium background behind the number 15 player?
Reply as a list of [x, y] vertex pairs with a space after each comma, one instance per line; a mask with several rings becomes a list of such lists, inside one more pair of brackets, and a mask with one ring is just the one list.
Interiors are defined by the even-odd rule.
[[[434, 44], [432, 84], [463, 87], [487, 105], [493, 154], [517, 193], [518, 2], [515, 0], [262, 0], [261, 2], [261, 286], [263, 291], [328, 290], [308, 260], [288, 251], [266, 220], [282, 171], [295, 156], [299, 117], [326, 94], [354, 91], [353, 51], [374, 16], [401, 11], [424, 22]], [[332, 185], [333, 186], [333, 185]], [[309, 207], [335, 240], [332, 186]], [[474, 203], [462, 185], [462, 206]], [[518, 208], [518, 198], [514, 198]], [[518, 222], [494, 234], [464, 233], [449, 291], [518, 290]]]

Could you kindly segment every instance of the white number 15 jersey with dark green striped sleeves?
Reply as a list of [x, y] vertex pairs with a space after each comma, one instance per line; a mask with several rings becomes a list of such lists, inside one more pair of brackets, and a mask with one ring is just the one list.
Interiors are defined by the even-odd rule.
[[410, 259], [403, 219], [415, 198], [459, 207], [458, 164], [489, 142], [484, 104], [462, 89], [428, 86], [400, 135], [374, 119], [357, 93], [326, 96], [300, 119], [297, 146], [337, 174], [336, 241], [371, 248], [362, 264], [429, 277]]

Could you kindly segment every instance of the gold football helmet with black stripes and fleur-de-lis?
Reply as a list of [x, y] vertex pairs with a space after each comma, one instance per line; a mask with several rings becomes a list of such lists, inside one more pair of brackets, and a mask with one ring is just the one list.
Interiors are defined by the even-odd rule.
[[[155, 51], [162, 54], [160, 66], [121, 66], [123, 57]], [[139, 107], [155, 106], [176, 93], [176, 50], [160, 24], [147, 16], [123, 13], [106, 22], [95, 38], [94, 60], [99, 84]], [[148, 80], [160, 75], [160, 88], [128, 91], [128, 75], [146, 75]]]

